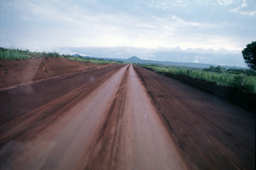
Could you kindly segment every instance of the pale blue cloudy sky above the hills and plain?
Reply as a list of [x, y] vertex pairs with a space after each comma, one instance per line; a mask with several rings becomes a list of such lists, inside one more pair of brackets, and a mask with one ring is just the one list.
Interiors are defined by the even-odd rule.
[[246, 67], [256, 0], [0, 0], [0, 47]]

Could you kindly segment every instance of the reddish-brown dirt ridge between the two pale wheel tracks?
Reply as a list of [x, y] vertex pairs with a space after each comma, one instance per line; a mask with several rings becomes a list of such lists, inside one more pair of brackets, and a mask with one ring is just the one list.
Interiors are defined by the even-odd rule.
[[126, 68], [121, 78], [118, 89], [114, 95], [110, 107], [107, 109], [105, 121], [100, 128], [100, 132], [96, 133], [98, 137], [90, 144], [90, 160], [87, 160], [85, 169], [98, 167], [111, 167], [117, 163], [117, 155], [120, 148], [120, 135], [122, 133], [122, 121], [120, 120], [124, 114], [124, 103], [127, 94], [127, 77], [130, 65]]

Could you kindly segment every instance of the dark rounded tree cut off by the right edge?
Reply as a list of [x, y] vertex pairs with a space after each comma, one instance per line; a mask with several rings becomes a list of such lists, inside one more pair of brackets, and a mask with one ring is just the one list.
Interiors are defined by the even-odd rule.
[[244, 62], [253, 70], [256, 70], [256, 41], [247, 44], [242, 50]]

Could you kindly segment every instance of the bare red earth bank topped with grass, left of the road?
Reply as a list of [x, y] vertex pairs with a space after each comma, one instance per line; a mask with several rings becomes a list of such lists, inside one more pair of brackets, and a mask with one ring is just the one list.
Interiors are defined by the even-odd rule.
[[16, 87], [38, 80], [65, 77], [84, 70], [111, 65], [116, 64], [84, 63], [61, 57], [0, 60], [0, 89]]

